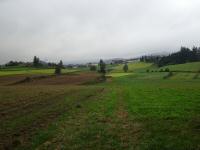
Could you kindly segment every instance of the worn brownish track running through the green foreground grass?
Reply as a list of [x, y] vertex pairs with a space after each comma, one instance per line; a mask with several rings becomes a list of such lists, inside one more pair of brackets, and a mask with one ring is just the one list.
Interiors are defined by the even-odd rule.
[[120, 139], [123, 149], [137, 149], [141, 137], [142, 126], [139, 122], [131, 119], [126, 110], [123, 99], [123, 88], [116, 89], [118, 93], [117, 108], [115, 112], [114, 132]]

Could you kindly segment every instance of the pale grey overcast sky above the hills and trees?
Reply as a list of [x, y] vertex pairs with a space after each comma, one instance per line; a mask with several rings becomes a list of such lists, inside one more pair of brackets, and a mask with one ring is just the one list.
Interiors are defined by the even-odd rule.
[[0, 0], [0, 63], [79, 63], [200, 46], [200, 0]]

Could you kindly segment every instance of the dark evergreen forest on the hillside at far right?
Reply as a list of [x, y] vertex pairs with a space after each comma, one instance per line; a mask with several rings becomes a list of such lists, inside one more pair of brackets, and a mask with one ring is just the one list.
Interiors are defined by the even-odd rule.
[[186, 62], [200, 61], [200, 47], [181, 47], [180, 51], [169, 54], [168, 56], [151, 55], [142, 56], [141, 62], [149, 62], [158, 65], [159, 67], [173, 64], [183, 64]]

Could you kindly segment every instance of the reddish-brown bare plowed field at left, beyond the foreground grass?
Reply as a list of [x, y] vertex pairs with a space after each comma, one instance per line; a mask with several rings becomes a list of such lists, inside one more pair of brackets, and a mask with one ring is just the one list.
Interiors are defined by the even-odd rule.
[[[30, 81], [26, 81], [26, 78], [30, 78]], [[65, 85], [65, 84], [84, 84], [88, 82], [94, 82], [98, 79], [99, 75], [93, 72], [78, 73], [78, 74], [64, 74], [64, 75], [15, 75], [0, 77], [0, 85]], [[25, 81], [24, 81], [25, 80]]]

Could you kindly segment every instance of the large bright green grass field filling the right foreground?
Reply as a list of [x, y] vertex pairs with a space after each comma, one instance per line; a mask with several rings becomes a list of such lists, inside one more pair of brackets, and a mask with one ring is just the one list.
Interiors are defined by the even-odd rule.
[[130, 81], [124, 76], [99, 85], [106, 92], [82, 103], [72, 116], [68, 114], [57, 134], [39, 147], [196, 149], [200, 140], [200, 85], [165, 83]]

